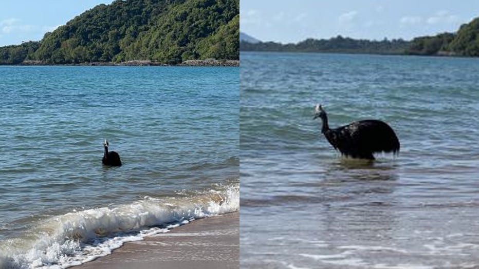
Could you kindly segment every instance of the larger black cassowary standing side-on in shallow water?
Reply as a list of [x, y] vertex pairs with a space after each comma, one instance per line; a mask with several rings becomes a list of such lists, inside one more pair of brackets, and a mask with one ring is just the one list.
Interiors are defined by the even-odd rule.
[[374, 160], [375, 152], [399, 153], [396, 133], [382, 121], [364, 120], [330, 129], [326, 111], [319, 104], [314, 119], [317, 118], [323, 121], [321, 132], [329, 144], [346, 157]]

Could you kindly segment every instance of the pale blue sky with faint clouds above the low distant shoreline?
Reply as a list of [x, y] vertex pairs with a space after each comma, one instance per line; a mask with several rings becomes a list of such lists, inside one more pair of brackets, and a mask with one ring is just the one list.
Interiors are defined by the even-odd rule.
[[410, 40], [455, 32], [474, 17], [479, 17], [479, 2], [472, 0], [240, 1], [240, 30], [282, 43], [337, 35]]

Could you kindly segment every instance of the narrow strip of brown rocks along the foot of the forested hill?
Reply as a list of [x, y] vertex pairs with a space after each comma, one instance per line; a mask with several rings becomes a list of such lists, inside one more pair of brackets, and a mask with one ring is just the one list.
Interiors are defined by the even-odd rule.
[[127, 61], [121, 63], [115, 62], [91, 62], [91, 63], [80, 63], [80, 64], [52, 64], [46, 63], [43, 61], [34, 61], [34, 60], [25, 60], [19, 65], [71, 65], [71, 66], [240, 66], [239, 60], [188, 60], [180, 64], [164, 64], [153, 62], [150, 60], [135, 60]]

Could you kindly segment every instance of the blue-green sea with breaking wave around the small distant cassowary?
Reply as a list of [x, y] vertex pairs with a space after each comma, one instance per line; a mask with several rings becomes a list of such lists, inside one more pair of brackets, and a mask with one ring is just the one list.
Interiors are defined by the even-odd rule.
[[[0, 66], [0, 268], [81, 264], [238, 210], [239, 73]], [[104, 139], [121, 167], [102, 165]]]

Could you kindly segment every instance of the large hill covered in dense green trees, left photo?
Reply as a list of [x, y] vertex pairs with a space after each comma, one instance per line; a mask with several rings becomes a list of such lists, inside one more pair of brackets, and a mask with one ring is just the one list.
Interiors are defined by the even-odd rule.
[[239, 0], [117, 0], [40, 42], [0, 48], [0, 64], [239, 60]]

